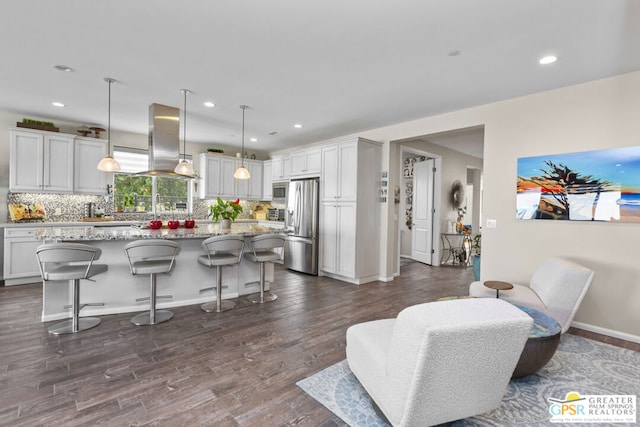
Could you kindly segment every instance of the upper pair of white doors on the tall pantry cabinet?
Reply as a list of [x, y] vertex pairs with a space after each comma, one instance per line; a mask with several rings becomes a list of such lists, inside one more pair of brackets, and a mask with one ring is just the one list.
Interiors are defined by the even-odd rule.
[[[358, 141], [322, 148], [322, 200], [355, 201], [358, 193]], [[366, 161], [366, 159], [362, 159]]]

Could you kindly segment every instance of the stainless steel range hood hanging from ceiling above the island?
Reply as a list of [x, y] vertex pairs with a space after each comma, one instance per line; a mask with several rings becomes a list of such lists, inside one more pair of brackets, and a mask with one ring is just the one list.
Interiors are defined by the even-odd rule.
[[180, 161], [180, 109], [162, 104], [149, 106], [149, 170], [136, 175], [195, 178], [174, 172]]

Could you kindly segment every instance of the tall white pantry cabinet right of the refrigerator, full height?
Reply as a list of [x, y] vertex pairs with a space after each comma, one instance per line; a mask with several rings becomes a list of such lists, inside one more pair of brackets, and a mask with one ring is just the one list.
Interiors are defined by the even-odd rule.
[[382, 145], [322, 147], [320, 274], [361, 284], [379, 277]]

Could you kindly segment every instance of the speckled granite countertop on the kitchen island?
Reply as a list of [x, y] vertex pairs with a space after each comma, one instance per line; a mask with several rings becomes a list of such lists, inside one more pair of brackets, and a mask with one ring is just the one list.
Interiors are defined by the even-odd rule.
[[230, 230], [222, 230], [218, 224], [198, 224], [195, 228], [179, 227], [177, 229], [161, 228], [151, 230], [137, 225], [108, 226], [94, 224], [84, 227], [43, 226], [36, 232], [36, 238], [41, 240], [138, 240], [138, 239], [206, 239], [207, 237], [225, 234], [253, 236], [266, 233], [280, 233], [281, 229], [265, 227], [253, 223], [235, 222]]

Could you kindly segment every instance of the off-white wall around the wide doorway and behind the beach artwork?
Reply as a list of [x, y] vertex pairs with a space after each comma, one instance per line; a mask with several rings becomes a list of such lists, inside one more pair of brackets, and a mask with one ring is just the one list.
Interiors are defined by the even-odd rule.
[[[384, 143], [382, 170], [397, 182], [392, 141], [484, 126], [482, 280], [527, 283], [549, 256], [592, 268], [595, 280], [576, 315], [578, 325], [640, 342], [640, 224], [522, 221], [516, 219], [519, 157], [640, 145], [640, 72], [334, 138]], [[394, 182], [395, 179], [395, 182]], [[382, 276], [395, 271], [397, 222], [393, 207], [381, 247]], [[384, 236], [386, 235], [386, 241]]]

